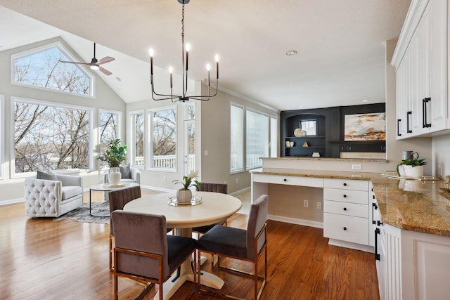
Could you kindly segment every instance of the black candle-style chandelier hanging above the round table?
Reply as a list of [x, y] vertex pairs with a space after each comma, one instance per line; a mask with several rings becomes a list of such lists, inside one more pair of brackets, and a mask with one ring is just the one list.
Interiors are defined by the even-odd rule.
[[180, 4], [183, 5], [183, 7], [181, 8], [181, 51], [182, 51], [182, 56], [181, 56], [181, 62], [182, 62], [182, 70], [181, 70], [181, 78], [182, 78], [182, 82], [183, 82], [183, 86], [182, 86], [182, 94], [181, 95], [174, 95], [173, 93], [173, 77], [172, 77], [172, 72], [173, 69], [172, 67], [169, 67], [169, 72], [170, 72], [170, 95], [169, 94], [164, 94], [164, 93], [156, 93], [155, 92], [155, 83], [153, 82], [153, 49], [150, 48], [150, 85], [152, 86], [152, 98], [153, 100], [172, 100], [172, 102], [176, 102], [176, 101], [182, 101], [182, 102], [186, 102], [189, 99], [195, 99], [195, 100], [203, 100], [203, 101], [207, 101], [210, 100], [211, 97], [214, 97], [217, 95], [217, 86], [219, 84], [219, 56], [216, 56], [216, 92], [214, 93], [214, 95], [211, 95], [210, 93], [210, 88], [211, 88], [211, 76], [210, 76], [210, 69], [211, 66], [210, 64], [206, 65], [206, 70], [207, 70], [207, 86], [208, 86], [208, 94], [207, 95], [200, 95], [200, 96], [186, 96], [186, 93], [188, 91], [188, 63], [189, 63], [189, 44], [184, 44], [184, 4], [188, 4], [189, 0], [178, 0]]

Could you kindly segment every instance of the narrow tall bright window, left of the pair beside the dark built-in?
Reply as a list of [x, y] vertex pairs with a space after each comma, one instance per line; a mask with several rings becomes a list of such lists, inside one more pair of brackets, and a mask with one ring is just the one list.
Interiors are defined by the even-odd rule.
[[244, 108], [231, 104], [231, 173], [244, 170]]

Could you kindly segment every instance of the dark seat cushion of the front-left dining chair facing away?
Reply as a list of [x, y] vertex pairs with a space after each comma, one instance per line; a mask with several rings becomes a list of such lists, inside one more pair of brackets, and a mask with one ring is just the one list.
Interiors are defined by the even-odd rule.
[[190, 237], [167, 235], [167, 260], [169, 273], [172, 273], [181, 262], [195, 249], [195, 240]]

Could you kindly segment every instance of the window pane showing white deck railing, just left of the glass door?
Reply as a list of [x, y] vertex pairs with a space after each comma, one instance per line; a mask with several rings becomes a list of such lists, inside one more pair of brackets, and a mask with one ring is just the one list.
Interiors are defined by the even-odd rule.
[[176, 171], [176, 107], [150, 111], [151, 167]]

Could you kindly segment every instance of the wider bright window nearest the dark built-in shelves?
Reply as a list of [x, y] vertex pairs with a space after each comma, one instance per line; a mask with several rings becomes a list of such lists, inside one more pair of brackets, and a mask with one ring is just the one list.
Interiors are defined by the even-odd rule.
[[245, 125], [247, 169], [261, 167], [260, 157], [269, 156], [269, 116], [247, 110]]

